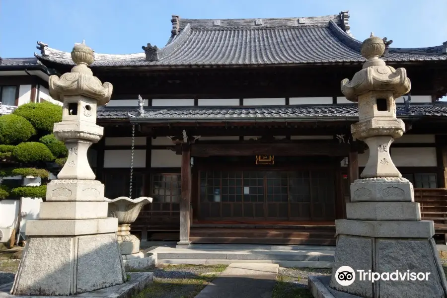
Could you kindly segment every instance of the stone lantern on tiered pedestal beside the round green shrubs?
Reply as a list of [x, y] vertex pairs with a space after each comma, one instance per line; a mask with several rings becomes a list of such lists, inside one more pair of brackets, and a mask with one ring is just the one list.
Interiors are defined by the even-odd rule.
[[69, 150], [58, 179], [47, 184], [39, 220], [28, 221], [28, 241], [11, 290], [13, 295], [68, 296], [123, 284], [126, 275], [116, 232], [108, 218], [104, 185], [95, 179], [87, 149], [98, 142], [96, 106], [110, 100], [112, 85], [88, 68], [92, 49], [75, 44], [76, 66], [61, 77], [50, 76], [50, 95], [63, 102], [62, 121], [54, 135]]

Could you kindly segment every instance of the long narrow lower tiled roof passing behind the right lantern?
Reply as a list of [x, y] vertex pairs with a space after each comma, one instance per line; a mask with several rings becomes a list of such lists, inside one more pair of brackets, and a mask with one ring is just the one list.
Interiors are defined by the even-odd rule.
[[[409, 112], [404, 106], [397, 106], [397, 115], [405, 116], [447, 116], [447, 104], [412, 105]], [[99, 107], [98, 119], [130, 119], [143, 122], [174, 121], [265, 121], [309, 118], [357, 120], [358, 106], [353, 105], [314, 105], [314, 106], [280, 106], [280, 107], [166, 107], [146, 108], [143, 116], [138, 115], [132, 107]]]

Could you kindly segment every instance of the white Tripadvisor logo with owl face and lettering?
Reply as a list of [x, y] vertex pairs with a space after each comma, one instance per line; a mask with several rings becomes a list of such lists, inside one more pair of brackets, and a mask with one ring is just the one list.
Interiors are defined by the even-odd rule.
[[[428, 281], [430, 272], [410, 272], [393, 271], [393, 272], [372, 272], [371, 270], [356, 270], [359, 281], [370, 281], [372, 283], [382, 281]], [[356, 280], [356, 271], [349, 266], [341, 266], [335, 272], [335, 280], [340, 286], [350, 286]]]

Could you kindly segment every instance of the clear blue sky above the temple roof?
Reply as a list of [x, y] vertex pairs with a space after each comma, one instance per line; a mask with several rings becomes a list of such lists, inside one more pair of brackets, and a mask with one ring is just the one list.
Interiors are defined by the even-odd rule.
[[70, 52], [82, 39], [97, 53], [138, 53], [148, 42], [158, 47], [166, 43], [172, 14], [267, 18], [338, 14], [346, 9], [359, 40], [373, 31], [392, 39], [392, 47], [447, 41], [447, 0], [1, 0], [0, 56], [31, 57], [36, 41]]

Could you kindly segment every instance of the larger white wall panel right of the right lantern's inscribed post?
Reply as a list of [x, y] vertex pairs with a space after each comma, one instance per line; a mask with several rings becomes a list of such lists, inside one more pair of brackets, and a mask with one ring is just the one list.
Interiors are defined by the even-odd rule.
[[436, 148], [391, 148], [396, 166], [437, 166]]

